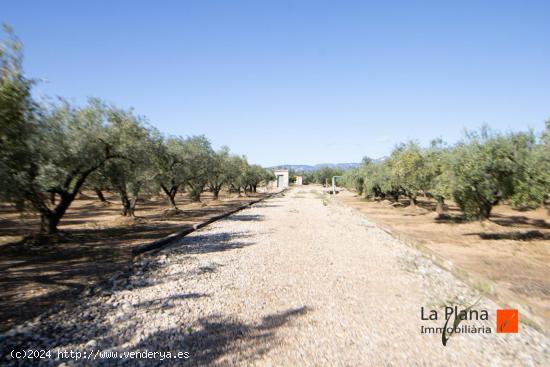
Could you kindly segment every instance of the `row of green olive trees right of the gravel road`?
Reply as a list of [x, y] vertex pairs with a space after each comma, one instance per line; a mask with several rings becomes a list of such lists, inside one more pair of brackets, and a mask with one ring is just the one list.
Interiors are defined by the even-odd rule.
[[501, 134], [484, 127], [468, 132], [455, 145], [434, 140], [428, 148], [415, 142], [397, 146], [386, 160], [365, 158], [345, 173], [346, 186], [366, 197], [399, 200], [411, 205], [419, 194], [454, 200], [468, 217], [488, 218], [502, 202], [514, 207], [543, 205], [550, 193], [550, 120], [545, 131]]

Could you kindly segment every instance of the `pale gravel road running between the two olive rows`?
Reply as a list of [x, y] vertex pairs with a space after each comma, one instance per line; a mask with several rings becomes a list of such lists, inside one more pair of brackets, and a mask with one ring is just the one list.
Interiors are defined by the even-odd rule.
[[[421, 333], [443, 326], [444, 305], [477, 299], [417, 250], [304, 186], [140, 258], [77, 305], [3, 335], [0, 352], [189, 352], [144, 365], [550, 365], [549, 338], [524, 324], [497, 334], [498, 306], [486, 298], [473, 309], [489, 319], [461, 325], [491, 333], [456, 334], [447, 346], [441, 334]], [[421, 320], [421, 307], [438, 310], [439, 320]], [[7, 364], [15, 362], [29, 361]], [[42, 360], [61, 362], [73, 363]]]

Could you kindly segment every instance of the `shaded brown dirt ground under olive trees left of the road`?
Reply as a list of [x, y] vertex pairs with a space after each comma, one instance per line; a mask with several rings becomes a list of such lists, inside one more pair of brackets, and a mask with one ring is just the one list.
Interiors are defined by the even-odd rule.
[[13, 207], [0, 205], [0, 331], [73, 298], [87, 286], [108, 279], [130, 265], [136, 246], [180, 231], [235, 209], [265, 194], [247, 197], [205, 193], [201, 203], [179, 194], [180, 213], [167, 211], [167, 200], [149, 197], [138, 203], [136, 219], [120, 215], [115, 195], [101, 203], [92, 192], [71, 205], [59, 227], [64, 240], [56, 244], [33, 241], [39, 218], [22, 218]]

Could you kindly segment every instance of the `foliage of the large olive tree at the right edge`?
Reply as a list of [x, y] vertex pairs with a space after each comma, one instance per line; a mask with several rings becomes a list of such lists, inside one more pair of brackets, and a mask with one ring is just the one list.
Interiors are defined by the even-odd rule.
[[457, 144], [451, 174], [453, 197], [468, 216], [489, 218], [504, 200], [538, 206], [548, 192], [547, 174], [532, 132], [496, 134], [487, 128], [470, 132]]

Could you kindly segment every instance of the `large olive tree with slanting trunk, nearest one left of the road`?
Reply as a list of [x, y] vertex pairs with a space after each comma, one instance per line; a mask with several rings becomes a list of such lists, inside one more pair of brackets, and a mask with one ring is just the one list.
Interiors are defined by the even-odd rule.
[[54, 234], [87, 178], [121, 155], [97, 101], [82, 108], [62, 103], [40, 119], [26, 140], [25, 162], [12, 167], [8, 182], [17, 185], [13, 201], [37, 211], [41, 232]]

